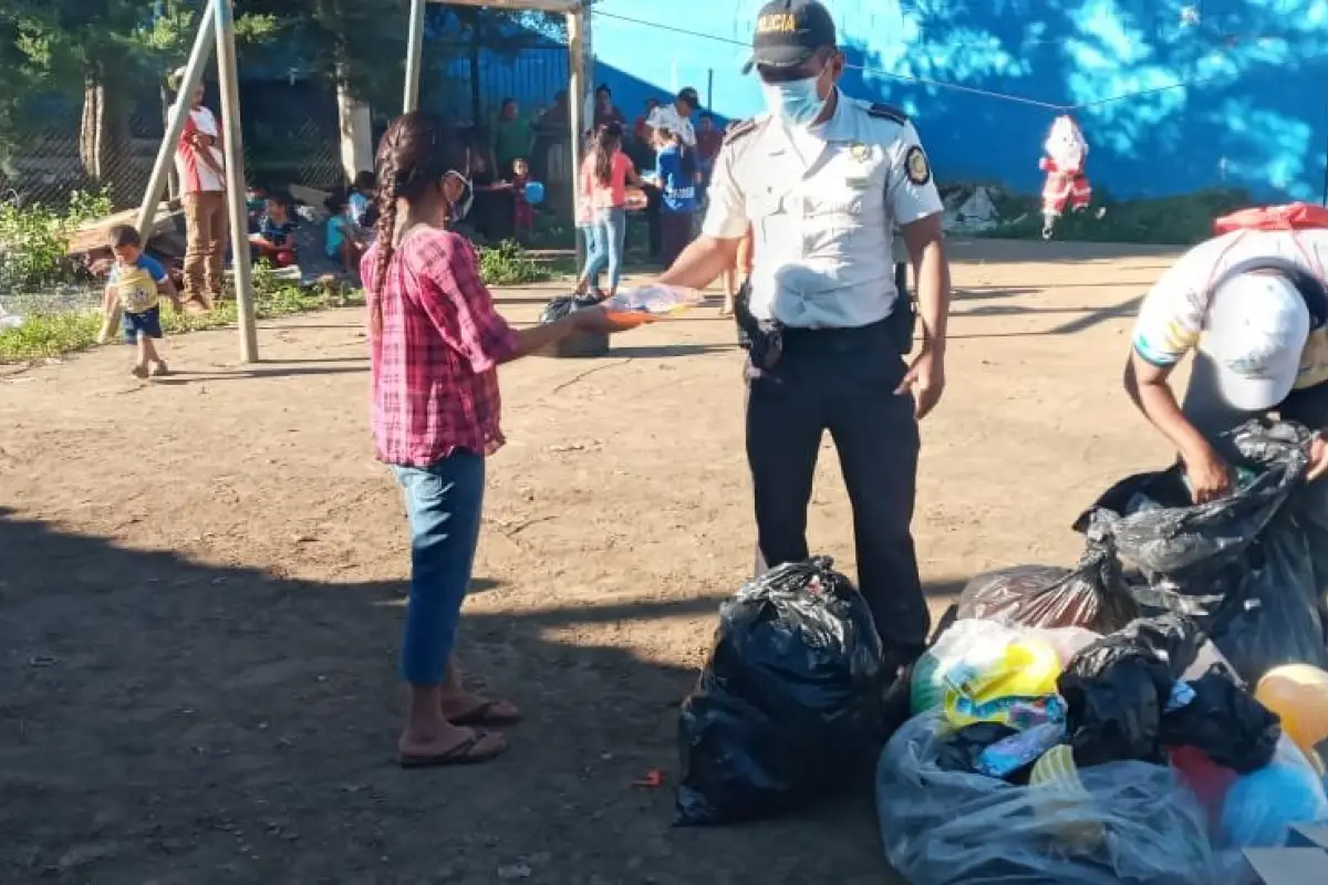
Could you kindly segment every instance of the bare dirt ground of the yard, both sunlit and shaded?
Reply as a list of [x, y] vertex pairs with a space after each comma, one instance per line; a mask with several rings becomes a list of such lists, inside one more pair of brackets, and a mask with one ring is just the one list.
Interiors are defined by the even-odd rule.
[[[1120, 389], [1161, 249], [956, 243], [950, 386], [916, 517], [936, 610], [1070, 563], [1166, 451]], [[531, 322], [560, 287], [498, 293]], [[890, 882], [859, 796], [676, 829], [676, 707], [752, 563], [740, 353], [714, 306], [503, 370], [466, 662], [527, 722], [502, 760], [396, 768], [409, 559], [371, 458], [355, 310], [0, 368], [0, 881]], [[853, 568], [826, 442], [813, 547]], [[850, 572], [851, 573], [851, 572]], [[635, 787], [648, 770], [661, 789]], [[993, 836], [996, 836], [993, 833]]]

